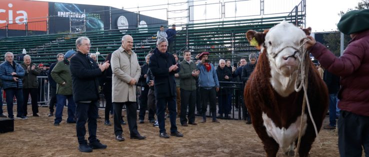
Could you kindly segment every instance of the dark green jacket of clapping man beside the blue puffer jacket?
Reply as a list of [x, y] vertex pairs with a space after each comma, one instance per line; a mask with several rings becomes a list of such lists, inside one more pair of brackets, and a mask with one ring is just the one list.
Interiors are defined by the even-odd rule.
[[[31, 69], [31, 66], [34, 65], [34, 69]], [[30, 63], [29, 69], [27, 70], [27, 65], [24, 62], [20, 63], [20, 66], [24, 69], [24, 76], [23, 76], [23, 88], [38, 88], [38, 80], [37, 75], [40, 72], [38, 66], [34, 63]]]

